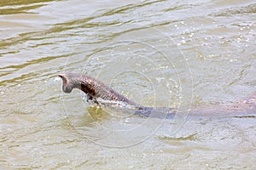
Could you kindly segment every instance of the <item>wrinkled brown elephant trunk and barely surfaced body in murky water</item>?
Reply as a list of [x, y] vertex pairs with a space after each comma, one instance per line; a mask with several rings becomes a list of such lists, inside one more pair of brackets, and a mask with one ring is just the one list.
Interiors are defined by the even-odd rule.
[[[59, 74], [58, 76], [61, 77], [63, 81], [63, 92], [69, 94], [72, 92], [73, 88], [78, 88], [87, 95], [87, 101], [93, 101], [97, 105], [106, 105], [109, 101], [113, 101], [112, 104], [122, 105], [122, 108], [125, 106], [125, 108], [131, 109], [133, 114], [140, 116], [172, 118], [177, 114], [177, 111], [173, 108], [138, 105], [93, 77], [75, 73]], [[237, 102], [236, 104], [214, 105], [207, 108], [195, 108], [190, 111], [190, 114], [197, 116], [212, 116], [213, 114], [216, 115], [216, 113], [220, 113], [219, 115], [225, 113], [225, 116], [254, 116], [256, 115], [256, 94], [251, 98]]]

